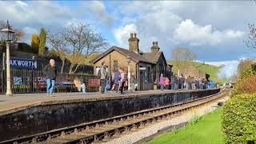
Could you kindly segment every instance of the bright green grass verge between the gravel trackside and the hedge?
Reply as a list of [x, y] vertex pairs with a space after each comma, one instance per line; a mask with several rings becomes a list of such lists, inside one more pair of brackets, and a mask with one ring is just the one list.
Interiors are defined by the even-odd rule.
[[185, 127], [158, 135], [147, 144], [222, 144], [224, 138], [221, 126], [222, 108], [202, 118], [195, 118]]

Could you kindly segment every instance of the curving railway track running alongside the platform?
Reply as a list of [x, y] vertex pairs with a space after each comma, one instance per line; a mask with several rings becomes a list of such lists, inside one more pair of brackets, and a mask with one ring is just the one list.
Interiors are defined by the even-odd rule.
[[164, 118], [172, 118], [194, 107], [203, 106], [226, 96], [228, 90], [204, 98], [198, 98], [174, 105], [162, 106], [150, 110], [142, 110], [132, 114], [125, 114], [95, 122], [87, 122], [77, 126], [70, 126], [58, 130], [51, 130], [41, 134], [34, 134], [23, 138], [15, 138], [2, 143], [91, 143], [102, 142], [118, 136], [129, 130], [145, 126]]

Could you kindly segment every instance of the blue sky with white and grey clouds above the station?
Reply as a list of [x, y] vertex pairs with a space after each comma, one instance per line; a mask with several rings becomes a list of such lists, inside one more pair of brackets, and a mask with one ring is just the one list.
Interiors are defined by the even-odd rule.
[[175, 47], [186, 47], [199, 62], [233, 69], [239, 59], [255, 56], [244, 42], [255, 14], [254, 1], [0, 1], [0, 19], [24, 30], [24, 42], [41, 27], [89, 22], [110, 46], [128, 48], [136, 32], [142, 51], [158, 41], [166, 59]]

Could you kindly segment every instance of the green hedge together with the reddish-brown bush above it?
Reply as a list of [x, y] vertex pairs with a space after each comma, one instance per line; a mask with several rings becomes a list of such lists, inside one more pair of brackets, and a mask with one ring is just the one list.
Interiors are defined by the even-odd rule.
[[242, 71], [222, 114], [226, 143], [256, 142], [256, 72]]

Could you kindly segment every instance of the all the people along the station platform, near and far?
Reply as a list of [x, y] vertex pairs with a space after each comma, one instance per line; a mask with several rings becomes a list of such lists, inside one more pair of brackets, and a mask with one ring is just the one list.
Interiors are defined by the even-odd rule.
[[[54, 59], [50, 59], [50, 63], [44, 67], [43, 74], [46, 76], [46, 92], [48, 95], [53, 95], [55, 79], [57, 77], [57, 69], [55, 67]], [[128, 78], [124, 69], [119, 67], [118, 70], [114, 70], [110, 75], [106, 70], [106, 62], [102, 62], [102, 66], [98, 70], [98, 78], [100, 79], [101, 84], [101, 94], [105, 94], [106, 90], [115, 91], [117, 93], [120, 91], [121, 94], [124, 94], [124, 89], [128, 87]], [[84, 82], [81, 82], [78, 77], [75, 77], [73, 82], [78, 88], [78, 91], [82, 90], [82, 92], [86, 94], [86, 85]], [[200, 79], [190, 76], [185, 78], [183, 77], [183, 74], [181, 76], [174, 74], [170, 79], [161, 74], [158, 85], [161, 90], [206, 90], [208, 88], [216, 87], [214, 82], [206, 80], [205, 78]], [[135, 78], [134, 73], [131, 73], [130, 90], [135, 91], [137, 86], [137, 79]]]

